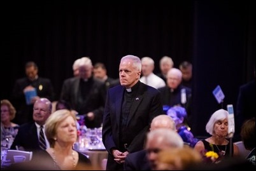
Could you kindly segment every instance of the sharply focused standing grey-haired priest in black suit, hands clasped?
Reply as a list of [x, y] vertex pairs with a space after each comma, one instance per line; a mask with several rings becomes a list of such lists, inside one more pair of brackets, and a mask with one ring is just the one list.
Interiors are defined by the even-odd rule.
[[120, 85], [110, 88], [103, 116], [103, 143], [108, 151], [106, 170], [124, 170], [127, 154], [143, 149], [155, 116], [163, 114], [160, 92], [139, 81], [141, 60], [121, 59]]

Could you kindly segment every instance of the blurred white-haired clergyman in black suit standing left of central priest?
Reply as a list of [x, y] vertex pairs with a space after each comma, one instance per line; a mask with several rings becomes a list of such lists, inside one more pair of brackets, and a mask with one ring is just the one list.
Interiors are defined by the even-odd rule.
[[66, 79], [62, 85], [60, 99], [71, 104], [71, 108], [85, 116], [88, 128], [99, 128], [103, 122], [106, 89], [104, 83], [92, 76], [93, 66], [89, 57], [79, 60], [79, 76]]

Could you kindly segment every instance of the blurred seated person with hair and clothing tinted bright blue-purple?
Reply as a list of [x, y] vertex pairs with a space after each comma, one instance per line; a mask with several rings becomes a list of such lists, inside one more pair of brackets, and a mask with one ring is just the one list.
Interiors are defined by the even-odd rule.
[[176, 130], [183, 139], [183, 142], [190, 147], [194, 147], [198, 140], [194, 138], [193, 133], [190, 132], [189, 128], [184, 123], [185, 119], [187, 118], [186, 109], [181, 106], [173, 106], [168, 109], [167, 115], [173, 118], [176, 125]]

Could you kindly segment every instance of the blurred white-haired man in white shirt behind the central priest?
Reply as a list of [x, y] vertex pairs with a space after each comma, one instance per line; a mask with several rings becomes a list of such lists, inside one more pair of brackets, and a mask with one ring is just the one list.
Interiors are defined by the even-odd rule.
[[145, 83], [146, 85], [153, 86], [153, 88], [161, 88], [166, 86], [164, 80], [153, 73], [153, 69], [155, 69], [155, 62], [152, 58], [141, 58], [141, 65], [141, 72], [143, 76], [139, 79], [139, 81]]

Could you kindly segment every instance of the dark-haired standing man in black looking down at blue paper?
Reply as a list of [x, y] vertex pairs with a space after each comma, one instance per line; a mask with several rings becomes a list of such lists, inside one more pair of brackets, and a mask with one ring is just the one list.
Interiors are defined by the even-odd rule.
[[[53, 91], [52, 82], [48, 78], [38, 76], [38, 65], [35, 62], [27, 62], [25, 64], [25, 78], [17, 79], [11, 93], [11, 102], [17, 114], [15, 123], [22, 125], [28, 121], [32, 121], [33, 104], [39, 98], [46, 98], [50, 101], [54, 100], [55, 93]], [[26, 104], [25, 93], [28, 90], [35, 88], [37, 95], [32, 98], [29, 104]]]

